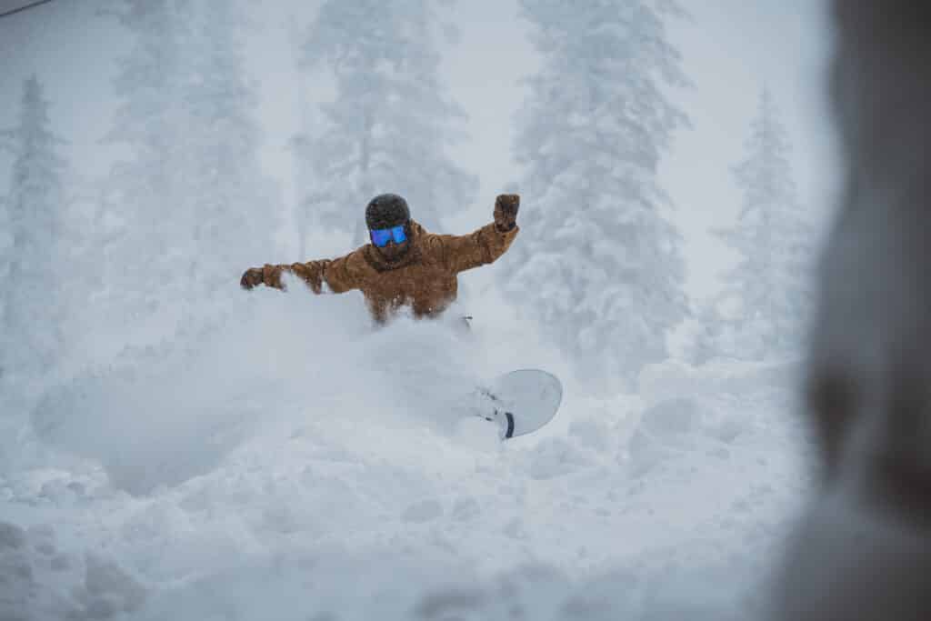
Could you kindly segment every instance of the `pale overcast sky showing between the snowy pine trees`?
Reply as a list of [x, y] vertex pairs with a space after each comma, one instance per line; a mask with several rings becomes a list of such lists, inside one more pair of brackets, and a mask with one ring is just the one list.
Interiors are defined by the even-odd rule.
[[[687, 241], [689, 288], [701, 296], [716, 287], [717, 273], [732, 259], [707, 232], [733, 223], [740, 196], [731, 168], [743, 155], [764, 85], [789, 128], [803, 205], [818, 220], [828, 213], [833, 167], [822, 98], [830, 32], [821, 0], [682, 4], [692, 19], [669, 29], [694, 87], [675, 97], [694, 128], [677, 136], [662, 179], [678, 205], [676, 219]], [[101, 6], [94, 0], [56, 0], [0, 20], [0, 128], [15, 123], [22, 79], [38, 74], [53, 102], [55, 126], [72, 142], [76, 168], [88, 176], [104, 173], [115, 156], [100, 140], [114, 111], [110, 81], [116, 61], [131, 43], [112, 20], [95, 17]], [[325, 96], [308, 80], [295, 80], [290, 30], [291, 24], [312, 19], [317, 3], [266, 0], [252, 6], [261, 8], [249, 64], [262, 85], [263, 162], [290, 200], [285, 144], [299, 126], [299, 102]], [[479, 225], [488, 218], [493, 196], [518, 180], [511, 144], [523, 96], [519, 78], [533, 72], [537, 59], [515, 0], [461, 0], [447, 15], [460, 36], [446, 52], [443, 78], [470, 117], [471, 138], [455, 155], [481, 180], [477, 203], [464, 205], [451, 222]], [[8, 168], [9, 158], [0, 156], [0, 188], [6, 186]], [[533, 217], [533, 205], [524, 206], [522, 217]]]

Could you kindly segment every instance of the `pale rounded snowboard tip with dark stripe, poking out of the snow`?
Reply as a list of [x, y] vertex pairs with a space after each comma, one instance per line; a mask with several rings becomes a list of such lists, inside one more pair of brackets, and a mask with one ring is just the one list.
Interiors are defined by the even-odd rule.
[[553, 420], [562, 384], [552, 373], [520, 369], [499, 375], [473, 394], [472, 412], [498, 425], [502, 440], [526, 436]]

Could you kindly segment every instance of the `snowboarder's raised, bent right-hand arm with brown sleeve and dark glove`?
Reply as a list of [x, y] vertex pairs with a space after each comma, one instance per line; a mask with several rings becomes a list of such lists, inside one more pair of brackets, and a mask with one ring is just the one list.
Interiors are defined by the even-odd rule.
[[518, 235], [517, 216], [520, 196], [499, 195], [494, 201], [494, 222], [464, 236], [440, 235], [446, 263], [459, 273], [479, 265], [494, 263]]

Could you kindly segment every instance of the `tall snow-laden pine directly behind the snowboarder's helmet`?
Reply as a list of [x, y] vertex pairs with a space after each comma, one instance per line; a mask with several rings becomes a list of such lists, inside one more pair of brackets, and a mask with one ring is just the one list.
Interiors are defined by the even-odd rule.
[[304, 43], [305, 66], [325, 64], [336, 85], [302, 149], [319, 188], [305, 203], [357, 242], [371, 196], [405, 196], [429, 230], [473, 199], [477, 180], [447, 155], [465, 115], [439, 80], [437, 22], [428, 0], [327, 0]]

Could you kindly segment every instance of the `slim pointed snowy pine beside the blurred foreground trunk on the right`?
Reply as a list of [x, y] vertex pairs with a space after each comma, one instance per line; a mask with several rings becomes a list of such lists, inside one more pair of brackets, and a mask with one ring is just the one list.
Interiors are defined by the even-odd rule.
[[788, 131], [766, 88], [745, 148], [734, 170], [744, 194], [739, 220], [718, 232], [739, 254], [722, 292], [737, 307], [724, 349], [737, 358], [761, 359], [797, 351], [801, 343], [815, 241], [796, 199]]

